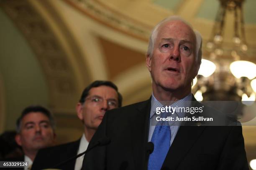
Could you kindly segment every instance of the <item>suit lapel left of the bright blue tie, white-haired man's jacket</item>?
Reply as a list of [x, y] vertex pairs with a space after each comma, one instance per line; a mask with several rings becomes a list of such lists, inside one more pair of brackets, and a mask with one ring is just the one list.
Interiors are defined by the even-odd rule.
[[134, 169], [144, 168], [145, 155], [146, 155], [146, 143], [148, 142], [148, 126], [149, 115], [151, 109], [151, 98], [136, 109], [134, 116], [130, 117], [131, 125], [131, 144]]

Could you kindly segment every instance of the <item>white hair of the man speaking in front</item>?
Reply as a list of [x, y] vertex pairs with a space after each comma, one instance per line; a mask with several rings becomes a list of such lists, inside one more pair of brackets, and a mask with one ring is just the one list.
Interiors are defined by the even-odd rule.
[[[168, 18], [165, 18], [160, 23], [158, 23], [151, 32], [151, 35], [149, 37], [148, 50], [147, 50], [147, 53], [146, 53], [147, 56], [152, 57], [152, 53], [153, 53], [153, 49], [154, 49], [154, 41], [156, 40], [156, 36], [158, 34], [159, 27], [161, 25], [163, 25], [164, 23], [174, 21], [174, 20], [182, 21], [183, 23], [188, 25], [189, 28], [191, 28], [193, 30], [192, 26], [187, 21], [183, 20], [179, 16], [170, 16]], [[195, 36], [196, 36], [195, 58], [196, 58], [196, 61], [198, 62], [198, 64], [200, 65], [201, 60], [202, 60], [202, 37], [201, 37], [201, 34], [197, 30], [193, 30], [193, 31], [194, 31]]]

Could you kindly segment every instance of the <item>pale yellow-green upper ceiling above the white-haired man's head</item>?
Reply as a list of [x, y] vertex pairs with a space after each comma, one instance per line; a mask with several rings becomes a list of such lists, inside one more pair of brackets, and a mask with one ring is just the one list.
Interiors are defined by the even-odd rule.
[[[203, 48], [212, 33], [218, 0], [65, 0], [84, 15], [111, 28], [141, 40], [148, 40], [151, 29], [163, 18], [179, 15], [189, 21], [202, 34]], [[244, 8], [246, 38], [249, 44], [248, 57], [244, 60], [256, 61], [256, 15], [254, 0], [246, 0]], [[233, 48], [233, 15], [226, 18], [224, 43], [228, 52]], [[203, 50], [204, 57], [209, 53]], [[229, 56], [227, 56], [229, 57]]]

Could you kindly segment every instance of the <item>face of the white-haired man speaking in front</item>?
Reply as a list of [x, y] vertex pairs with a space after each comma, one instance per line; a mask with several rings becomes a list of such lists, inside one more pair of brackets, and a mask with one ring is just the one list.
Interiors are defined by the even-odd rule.
[[191, 91], [197, 75], [195, 33], [181, 21], [162, 25], [154, 41], [152, 57], [147, 56], [154, 88]]

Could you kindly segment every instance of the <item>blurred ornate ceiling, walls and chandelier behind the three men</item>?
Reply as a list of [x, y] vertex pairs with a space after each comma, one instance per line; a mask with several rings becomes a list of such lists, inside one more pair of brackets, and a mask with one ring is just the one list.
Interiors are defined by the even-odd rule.
[[[256, 0], [0, 0], [0, 133], [34, 104], [53, 112], [58, 143], [79, 138], [75, 105], [94, 80], [115, 82], [123, 105], [147, 100], [148, 37], [171, 15], [203, 38], [197, 100], [254, 102]], [[243, 135], [256, 159], [256, 126]]]

